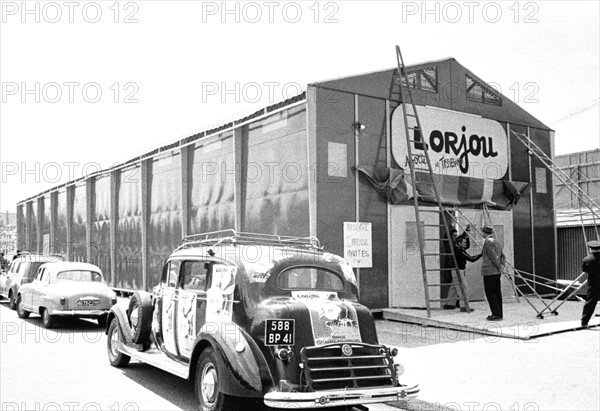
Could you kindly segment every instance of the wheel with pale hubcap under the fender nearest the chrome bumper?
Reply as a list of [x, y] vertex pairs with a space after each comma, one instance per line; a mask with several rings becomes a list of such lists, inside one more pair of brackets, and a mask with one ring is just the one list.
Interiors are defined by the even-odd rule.
[[238, 398], [219, 391], [219, 367], [212, 348], [206, 348], [198, 358], [194, 391], [201, 411], [234, 411], [244, 408]]

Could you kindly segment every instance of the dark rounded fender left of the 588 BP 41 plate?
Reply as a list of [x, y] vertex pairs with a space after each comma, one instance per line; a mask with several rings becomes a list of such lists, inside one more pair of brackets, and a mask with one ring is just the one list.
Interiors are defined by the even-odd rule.
[[[240, 345], [241, 344], [241, 345]], [[236, 350], [236, 346], [244, 349]], [[236, 397], [264, 395], [264, 389], [273, 385], [267, 362], [252, 337], [235, 323], [222, 323], [222, 329], [215, 323], [205, 325], [200, 330], [190, 360], [190, 380], [196, 373], [196, 364], [202, 351], [212, 347], [220, 371], [219, 391]]]

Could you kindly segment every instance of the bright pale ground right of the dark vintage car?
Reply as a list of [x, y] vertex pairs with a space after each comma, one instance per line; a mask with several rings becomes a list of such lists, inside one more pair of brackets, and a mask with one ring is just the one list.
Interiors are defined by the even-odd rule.
[[387, 320], [378, 321], [377, 328], [380, 342], [399, 349], [402, 382], [421, 388], [418, 401], [394, 403], [396, 407], [600, 409], [598, 326], [527, 340]]

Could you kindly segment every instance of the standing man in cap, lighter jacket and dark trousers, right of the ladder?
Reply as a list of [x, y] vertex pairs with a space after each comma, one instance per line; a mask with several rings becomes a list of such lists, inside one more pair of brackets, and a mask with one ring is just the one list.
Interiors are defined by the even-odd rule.
[[502, 244], [494, 236], [494, 229], [488, 225], [481, 229], [485, 236], [483, 243], [483, 264], [481, 265], [481, 275], [483, 276], [483, 287], [485, 297], [490, 305], [492, 315], [488, 316], [488, 321], [498, 321], [502, 319], [502, 287], [500, 275], [504, 263], [504, 254], [502, 253]]

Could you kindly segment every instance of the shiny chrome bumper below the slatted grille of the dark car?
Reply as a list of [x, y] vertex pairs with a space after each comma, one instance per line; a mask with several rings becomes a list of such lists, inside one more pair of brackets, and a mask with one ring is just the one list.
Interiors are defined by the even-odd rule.
[[418, 393], [418, 385], [315, 392], [271, 391], [264, 401], [273, 408], [328, 408], [407, 400]]

